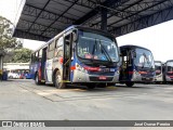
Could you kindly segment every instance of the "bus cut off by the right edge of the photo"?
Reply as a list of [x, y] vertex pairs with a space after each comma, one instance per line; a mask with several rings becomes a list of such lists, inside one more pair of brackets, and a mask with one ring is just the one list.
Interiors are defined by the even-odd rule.
[[164, 64], [164, 80], [167, 83], [173, 83], [173, 60], [169, 60]]

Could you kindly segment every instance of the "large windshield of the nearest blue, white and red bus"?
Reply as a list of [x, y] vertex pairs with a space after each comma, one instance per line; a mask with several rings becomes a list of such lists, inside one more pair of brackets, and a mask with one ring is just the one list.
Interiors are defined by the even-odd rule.
[[115, 41], [106, 36], [79, 30], [77, 53], [81, 58], [118, 62], [118, 48]]

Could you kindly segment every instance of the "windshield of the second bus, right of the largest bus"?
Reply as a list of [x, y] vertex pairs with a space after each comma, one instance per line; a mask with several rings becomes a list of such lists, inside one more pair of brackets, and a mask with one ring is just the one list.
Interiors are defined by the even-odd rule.
[[154, 57], [150, 51], [136, 48], [136, 58], [134, 64], [142, 68], [155, 68]]

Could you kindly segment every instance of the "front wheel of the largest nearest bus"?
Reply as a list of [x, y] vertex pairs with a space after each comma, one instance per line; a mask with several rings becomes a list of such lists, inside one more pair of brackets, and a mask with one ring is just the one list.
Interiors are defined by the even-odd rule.
[[54, 76], [54, 86], [56, 89], [65, 89], [66, 84], [65, 82], [61, 81], [61, 72], [56, 70], [55, 76]]

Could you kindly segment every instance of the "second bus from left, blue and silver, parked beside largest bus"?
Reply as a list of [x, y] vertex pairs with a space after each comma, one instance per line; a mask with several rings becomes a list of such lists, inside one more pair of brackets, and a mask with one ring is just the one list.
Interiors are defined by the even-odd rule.
[[132, 87], [135, 82], [152, 82], [155, 63], [150, 50], [138, 46], [120, 47], [120, 83]]

